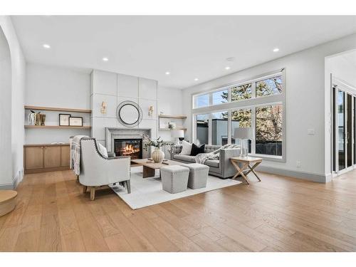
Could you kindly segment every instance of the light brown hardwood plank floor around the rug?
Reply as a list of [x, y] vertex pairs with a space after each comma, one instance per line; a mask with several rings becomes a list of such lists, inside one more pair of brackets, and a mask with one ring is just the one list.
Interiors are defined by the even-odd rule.
[[0, 217], [0, 251], [356, 251], [356, 171], [328, 184], [260, 173], [133, 211], [71, 171], [28, 174]]

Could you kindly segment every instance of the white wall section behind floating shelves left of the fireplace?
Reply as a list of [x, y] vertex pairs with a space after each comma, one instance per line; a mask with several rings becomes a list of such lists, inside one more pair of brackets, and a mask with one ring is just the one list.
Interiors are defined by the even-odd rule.
[[[88, 70], [61, 68], [38, 63], [26, 65], [26, 105], [55, 108], [90, 109], [90, 73]], [[25, 112], [28, 124], [28, 112]], [[42, 112], [46, 114], [46, 125], [58, 125], [58, 114], [68, 112]], [[90, 125], [90, 115], [68, 113], [83, 117], [83, 125]], [[73, 129], [26, 129], [26, 144], [48, 144], [68, 142], [71, 135], [90, 135], [90, 130]]]

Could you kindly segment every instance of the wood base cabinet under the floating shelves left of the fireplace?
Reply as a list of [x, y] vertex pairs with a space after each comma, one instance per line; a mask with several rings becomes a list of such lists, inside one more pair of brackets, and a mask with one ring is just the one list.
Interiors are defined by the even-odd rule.
[[69, 169], [70, 148], [64, 145], [24, 145], [25, 174]]

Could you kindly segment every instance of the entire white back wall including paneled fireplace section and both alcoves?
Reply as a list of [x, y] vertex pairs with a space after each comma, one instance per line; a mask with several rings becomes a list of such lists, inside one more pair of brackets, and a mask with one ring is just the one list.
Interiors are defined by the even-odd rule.
[[[70, 135], [78, 134], [92, 135], [104, 144], [105, 127], [122, 126], [117, 122], [115, 112], [117, 105], [124, 100], [133, 100], [140, 105], [143, 120], [139, 127], [154, 129], [154, 137], [157, 136], [157, 113], [162, 111], [169, 115], [182, 114], [182, 90], [173, 88], [157, 90], [155, 80], [101, 70], [93, 70], [90, 75], [88, 70], [38, 63], [27, 63], [26, 74], [26, 105], [93, 110], [91, 122], [88, 114], [70, 113], [73, 116], [83, 117], [83, 125], [93, 124], [92, 132], [70, 129], [26, 129], [26, 144], [68, 142]], [[100, 112], [103, 101], [108, 103], [108, 112], [105, 115]], [[152, 117], [148, 116], [150, 105], [155, 107]], [[24, 116], [26, 124], [28, 112], [30, 111], [26, 110]], [[43, 113], [46, 114], [46, 125], [58, 125], [58, 112]], [[164, 140], [172, 140], [168, 131], [159, 131], [159, 135]]]

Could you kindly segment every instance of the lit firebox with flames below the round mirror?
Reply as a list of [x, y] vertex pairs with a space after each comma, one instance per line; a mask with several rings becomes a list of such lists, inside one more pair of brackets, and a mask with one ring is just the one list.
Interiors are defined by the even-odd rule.
[[131, 159], [142, 159], [142, 139], [115, 139], [116, 157], [129, 156]]

